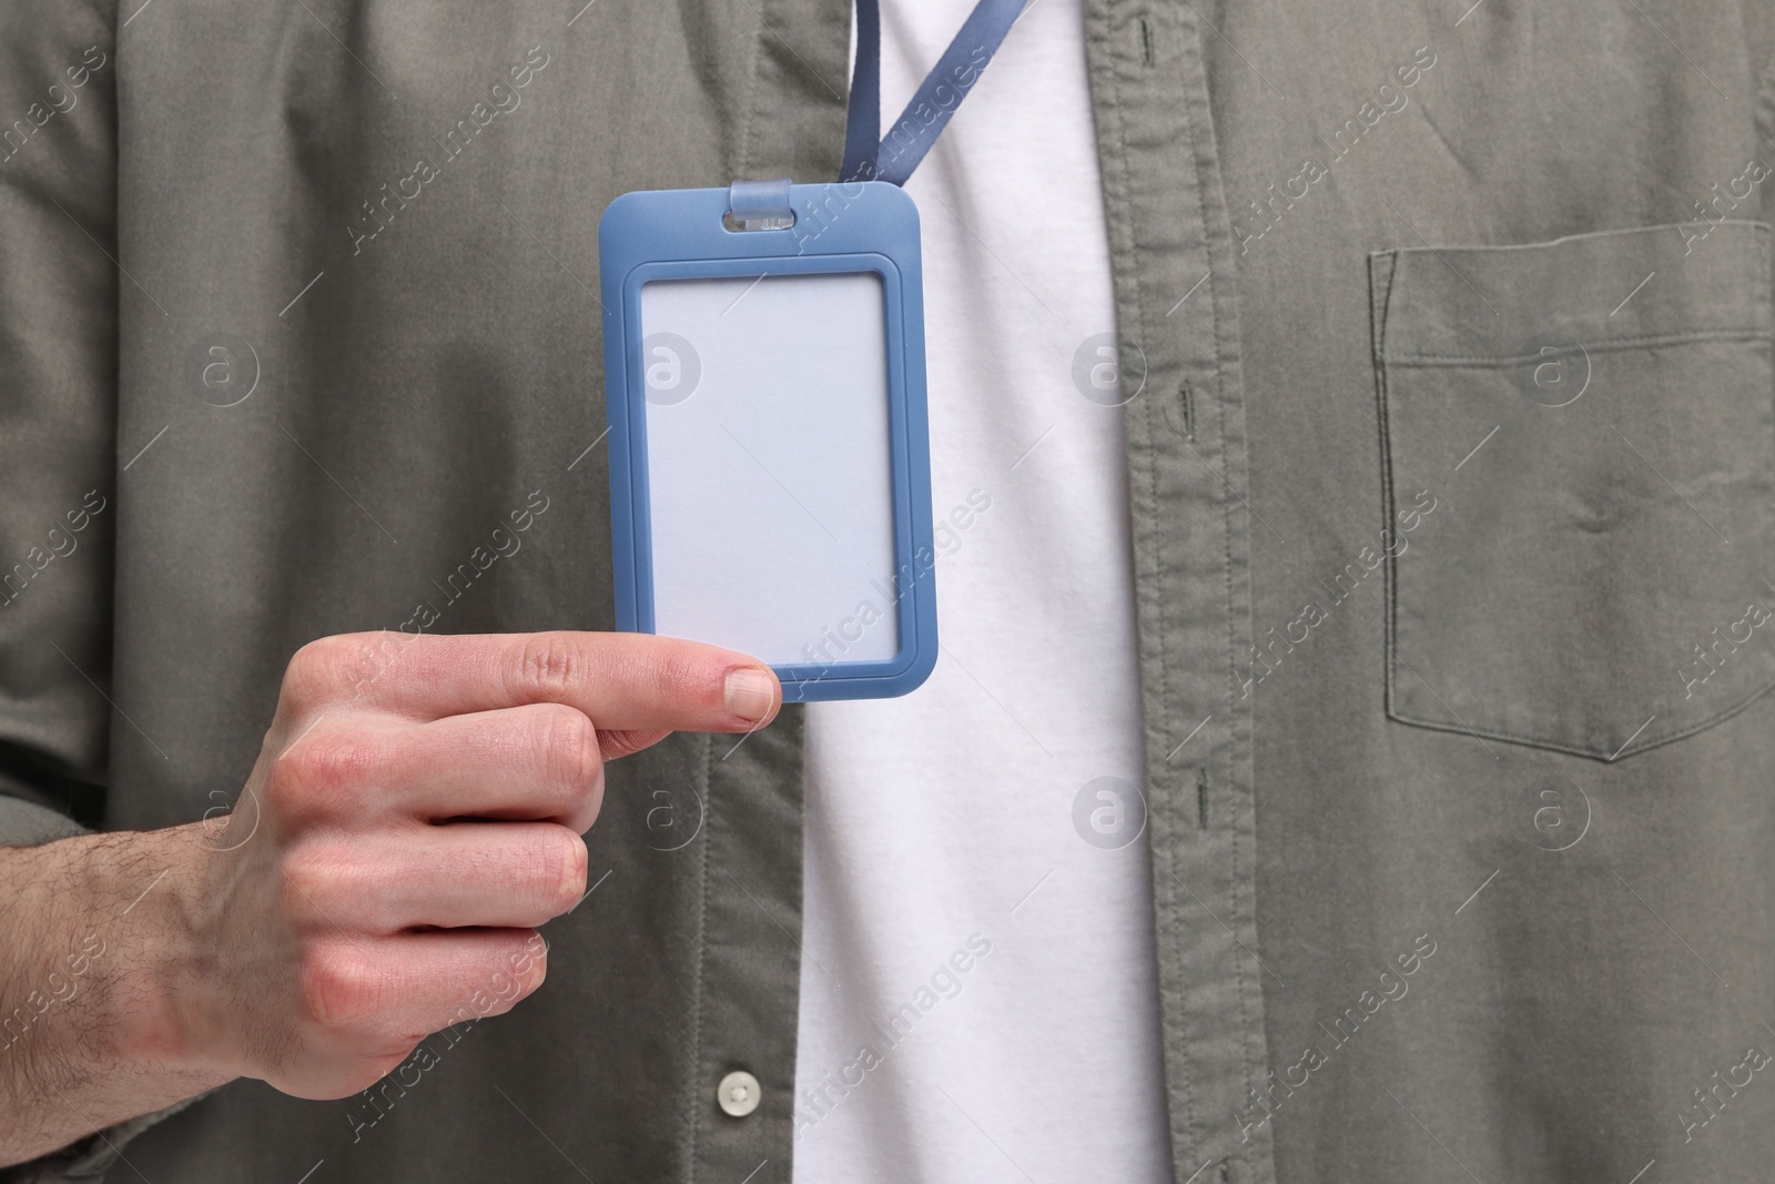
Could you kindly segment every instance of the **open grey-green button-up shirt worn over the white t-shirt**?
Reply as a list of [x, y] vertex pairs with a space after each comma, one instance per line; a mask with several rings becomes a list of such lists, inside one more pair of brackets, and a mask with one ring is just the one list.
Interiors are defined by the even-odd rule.
[[[233, 802], [312, 637], [609, 628], [596, 217], [832, 178], [847, 37], [0, 12], [7, 838]], [[1095, 0], [1088, 43], [1177, 1179], [1766, 1172], [1768, 5]], [[534, 999], [119, 1131], [115, 1179], [786, 1180], [801, 738], [614, 765]]]

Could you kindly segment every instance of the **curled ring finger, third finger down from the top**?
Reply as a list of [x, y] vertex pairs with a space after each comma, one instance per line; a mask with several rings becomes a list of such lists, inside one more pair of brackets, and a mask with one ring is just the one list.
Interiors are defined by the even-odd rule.
[[289, 854], [284, 882], [288, 914], [318, 935], [534, 928], [586, 893], [586, 845], [550, 822], [325, 834]]

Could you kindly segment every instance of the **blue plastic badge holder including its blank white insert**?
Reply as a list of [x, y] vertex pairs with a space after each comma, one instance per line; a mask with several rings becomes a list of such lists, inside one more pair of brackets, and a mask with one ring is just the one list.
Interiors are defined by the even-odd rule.
[[937, 660], [918, 206], [895, 185], [618, 197], [598, 225], [616, 627], [786, 701]]

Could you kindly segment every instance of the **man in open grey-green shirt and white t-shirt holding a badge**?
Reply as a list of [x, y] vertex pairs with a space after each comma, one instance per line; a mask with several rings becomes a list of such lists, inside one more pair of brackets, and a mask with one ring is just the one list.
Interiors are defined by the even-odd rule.
[[5, 20], [23, 1179], [1759, 1179], [1766, 7], [1028, 11], [944, 657], [781, 712], [600, 632], [593, 225], [843, 4]]

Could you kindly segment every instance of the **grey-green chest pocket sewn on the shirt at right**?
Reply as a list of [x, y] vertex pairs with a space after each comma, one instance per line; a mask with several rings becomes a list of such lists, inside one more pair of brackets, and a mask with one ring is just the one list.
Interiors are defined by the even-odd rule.
[[1770, 227], [1377, 252], [1370, 293], [1392, 719], [1617, 760], [1775, 683]]

